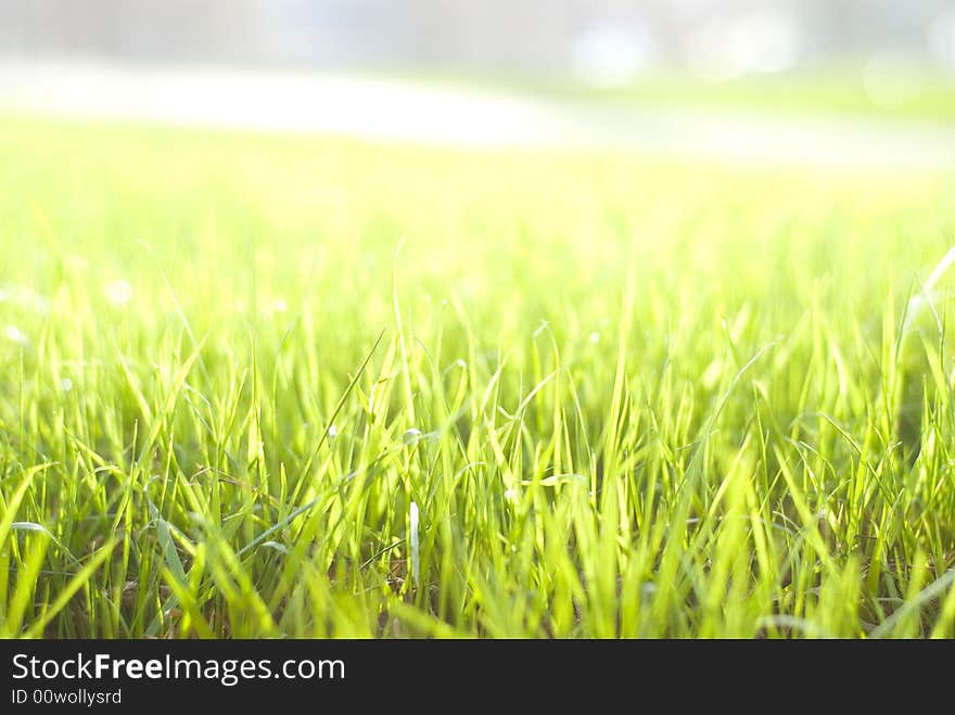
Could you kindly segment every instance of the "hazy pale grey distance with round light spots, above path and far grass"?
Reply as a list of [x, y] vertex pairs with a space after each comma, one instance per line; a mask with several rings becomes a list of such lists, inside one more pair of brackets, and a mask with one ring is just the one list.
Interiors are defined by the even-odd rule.
[[0, 53], [625, 84], [838, 63], [955, 74], [950, 0], [0, 0]]

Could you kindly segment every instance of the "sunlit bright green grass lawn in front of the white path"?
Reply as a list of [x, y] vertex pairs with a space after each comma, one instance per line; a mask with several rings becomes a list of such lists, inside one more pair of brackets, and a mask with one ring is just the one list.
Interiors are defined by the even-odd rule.
[[950, 176], [0, 155], [0, 635], [955, 635]]

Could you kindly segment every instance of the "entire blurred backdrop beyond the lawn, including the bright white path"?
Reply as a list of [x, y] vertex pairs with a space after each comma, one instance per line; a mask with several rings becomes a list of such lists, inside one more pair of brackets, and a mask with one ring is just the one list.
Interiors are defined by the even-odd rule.
[[[955, 4], [0, 0], [4, 108], [481, 145], [784, 158], [815, 146], [947, 166]], [[779, 108], [865, 123], [751, 122]], [[884, 118], [908, 126], [867, 138]]]

